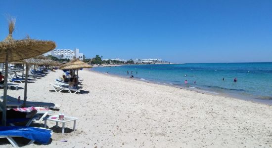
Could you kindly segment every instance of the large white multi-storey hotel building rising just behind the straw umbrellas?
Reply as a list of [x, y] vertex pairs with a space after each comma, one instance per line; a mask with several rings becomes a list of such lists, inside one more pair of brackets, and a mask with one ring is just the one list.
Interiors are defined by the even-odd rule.
[[[49, 51], [45, 53], [45, 56], [52, 55], [57, 58], [62, 59], [74, 59], [79, 58], [80, 60], [83, 60], [83, 53], [79, 53], [79, 49], [76, 48], [75, 50], [71, 49], [54, 49], [52, 51]], [[63, 55], [63, 56], [62, 56]]]

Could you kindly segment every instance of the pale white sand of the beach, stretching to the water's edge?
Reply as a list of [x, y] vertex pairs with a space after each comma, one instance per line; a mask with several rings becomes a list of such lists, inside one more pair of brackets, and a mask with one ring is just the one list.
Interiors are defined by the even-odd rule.
[[[272, 106], [89, 71], [79, 72], [84, 79], [84, 94], [52, 92], [49, 83], [61, 74], [50, 73], [28, 84], [28, 100], [58, 104], [60, 111], [56, 114], [63, 112], [80, 118], [77, 130], [71, 132], [70, 122], [64, 136], [60, 129], [53, 128], [58, 133], [53, 134], [49, 145], [27, 147], [272, 146]], [[8, 90], [8, 95], [23, 98], [23, 91]], [[48, 126], [52, 128], [54, 123], [48, 121]]]

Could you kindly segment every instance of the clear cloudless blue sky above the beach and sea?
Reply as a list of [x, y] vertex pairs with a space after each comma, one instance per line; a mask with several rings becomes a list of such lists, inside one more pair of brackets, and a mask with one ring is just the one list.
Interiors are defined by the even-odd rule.
[[0, 0], [15, 39], [53, 40], [87, 58], [272, 62], [272, 0]]

